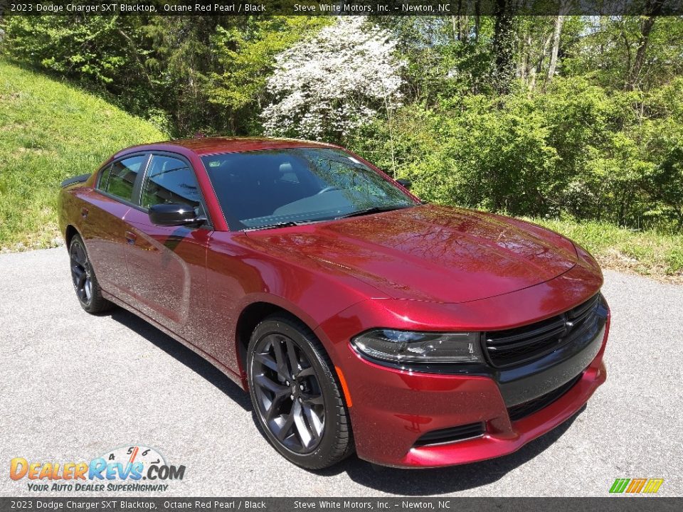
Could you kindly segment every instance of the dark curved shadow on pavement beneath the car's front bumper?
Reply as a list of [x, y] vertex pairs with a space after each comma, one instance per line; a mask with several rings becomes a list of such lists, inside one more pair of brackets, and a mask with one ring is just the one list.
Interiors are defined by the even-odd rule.
[[335, 466], [328, 471], [329, 474], [345, 471], [349, 478], [358, 484], [377, 491], [404, 496], [430, 496], [466, 491], [492, 484], [509, 471], [526, 464], [544, 452], [569, 429], [576, 417], [584, 410], [586, 410], [586, 405], [551, 432], [534, 439], [517, 452], [497, 459], [438, 469], [395, 469], [380, 468], [358, 457], [350, 457], [339, 464], [339, 469]]

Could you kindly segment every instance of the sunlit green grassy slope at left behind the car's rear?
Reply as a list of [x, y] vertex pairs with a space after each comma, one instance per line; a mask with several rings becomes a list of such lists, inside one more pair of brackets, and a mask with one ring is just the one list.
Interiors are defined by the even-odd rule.
[[55, 245], [60, 181], [165, 139], [104, 100], [0, 60], [0, 249]]

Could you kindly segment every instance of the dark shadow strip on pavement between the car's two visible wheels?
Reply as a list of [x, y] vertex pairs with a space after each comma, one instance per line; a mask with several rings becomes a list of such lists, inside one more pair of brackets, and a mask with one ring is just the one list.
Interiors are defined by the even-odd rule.
[[191, 351], [189, 348], [184, 346], [182, 343], [174, 340], [171, 336], [168, 336], [164, 332], [160, 331], [149, 322], [139, 318], [129, 311], [122, 308], [115, 308], [111, 312], [112, 320], [119, 322], [120, 324], [126, 326], [131, 331], [135, 331], [137, 334], [145, 338], [150, 343], [153, 343], [162, 351], [169, 354], [169, 356], [180, 361], [185, 366], [193, 370], [195, 373], [206, 379], [209, 383], [213, 384], [225, 393], [228, 398], [231, 398], [236, 404], [242, 407], [245, 411], [250, 412], [251, 400], [249, 394], [245, 393], [237, 384], [235, 384], [230, 378], [225, 375], [221, 370], [218, 370], [216, 366], [206, 361], [206, 359], [198, 356], [198, 354]]

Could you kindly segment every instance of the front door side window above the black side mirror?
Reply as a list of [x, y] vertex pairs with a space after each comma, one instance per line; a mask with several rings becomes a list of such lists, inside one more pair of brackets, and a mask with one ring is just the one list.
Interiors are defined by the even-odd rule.
[[194, 171], [181, 159], [153, 155], [142, 186], [143, 208], [156, 204], [187, 204], [196, 208], [201, 196]]

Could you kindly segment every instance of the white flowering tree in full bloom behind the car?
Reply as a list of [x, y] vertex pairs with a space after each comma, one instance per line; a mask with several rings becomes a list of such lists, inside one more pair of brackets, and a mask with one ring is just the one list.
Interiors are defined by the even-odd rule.
[[262, 112], [265, 132], [339, 139], [391, 112], [401, 102], [396, 42], [361, 16], [340, 16], [307, 41], [276, 57], [268, 79], [272, 102]]

